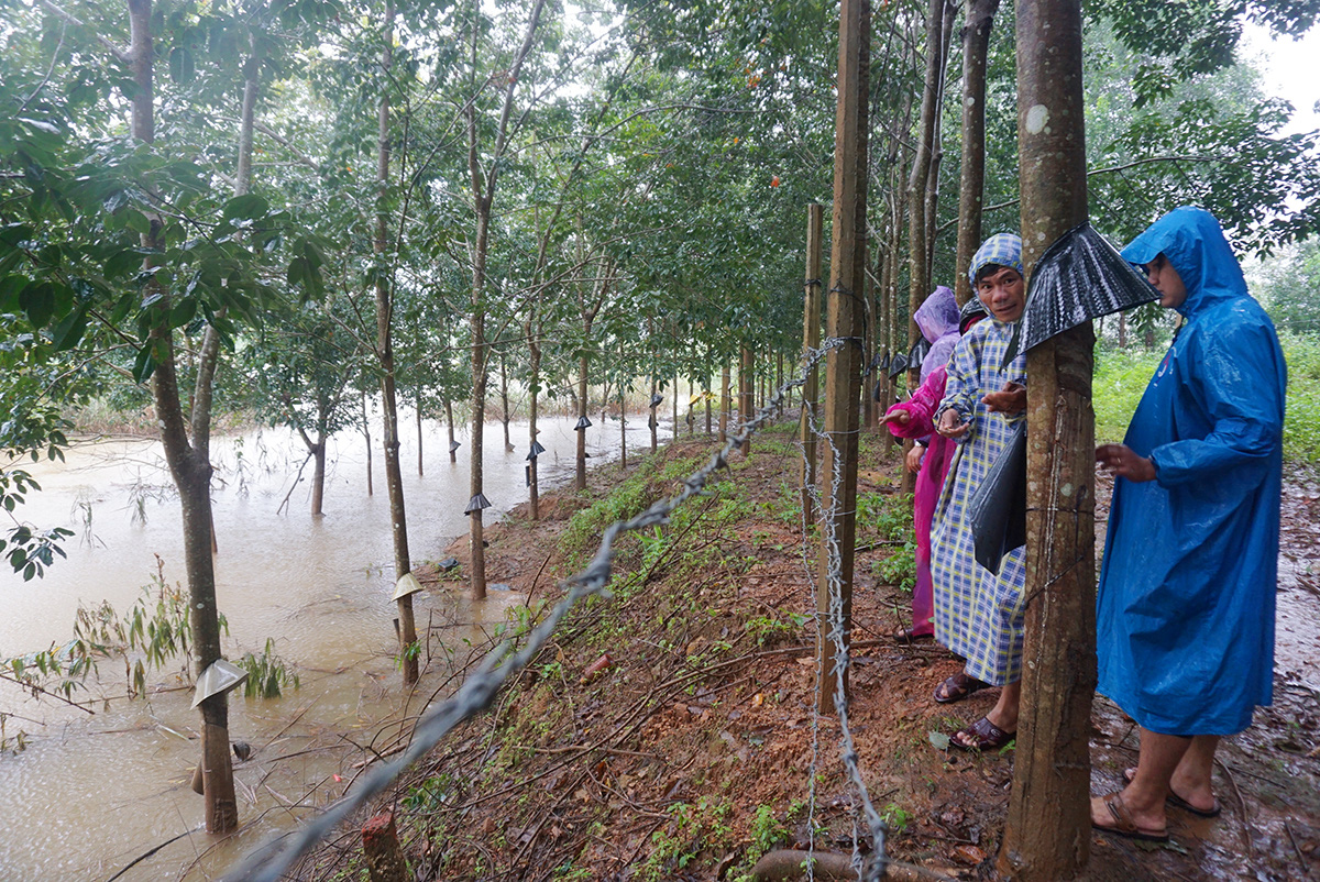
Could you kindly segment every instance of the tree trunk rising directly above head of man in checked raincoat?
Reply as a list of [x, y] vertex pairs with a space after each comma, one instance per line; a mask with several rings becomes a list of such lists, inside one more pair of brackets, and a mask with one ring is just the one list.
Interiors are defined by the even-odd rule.
[[986, 57], [999, 0], [966, 0], [962, 29], [962, 181], [958, 189], [957, 273], [953, 294], [962, 306], [972, 300], [968, 268], [981, 247], [981, 214], [986, 184]]

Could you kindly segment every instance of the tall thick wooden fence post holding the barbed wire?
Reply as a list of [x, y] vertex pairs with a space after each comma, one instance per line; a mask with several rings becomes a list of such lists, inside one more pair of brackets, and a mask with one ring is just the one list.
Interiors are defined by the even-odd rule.
[[[825, 333], [845, 343], [825, 363], [825, 524], [816, 610], [829, 622], [832, 559], [837, 562], [845, 647], [853, 615], [853, 545], [857, 533], [857, 434], [862, 391], [862, 275], [866, 271], [866, 128], [870, 81], [871, 8], [869, 0], [842, 0], [838, 25], [838, 110], [834, 124], [834, 214], [830, 290]], [[830, 548], [837, 547], [837, 559]], [[834, 713], [834, 693], [846, 695], [846, 671], [834, 656], [829, 626], [817, 644], [817, 709]]]

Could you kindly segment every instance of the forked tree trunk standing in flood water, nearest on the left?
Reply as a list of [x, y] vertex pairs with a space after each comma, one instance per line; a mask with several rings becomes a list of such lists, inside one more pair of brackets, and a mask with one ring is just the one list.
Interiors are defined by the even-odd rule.
[[[132, 99], [132, 135], [143, 143], [156, 140], [156, 102], [150, 0], [129, 0], [129, 65], [137, 94]], [[144, 250], [164, 247], [161, 224], [153, 219], [141, 236]], [[144, 263], [150, 268], [152, 260]], [[170, 292], [156, 287], [169, 314]], [[152, 330], [153, 343], [164, 350], [152, 374], [152, 397], [161, 425], [161, 444], [170, 475], [178, 489], [183, 528], [183, 560], [187, 570], [189, 609], [197, 673], [220, 658], [219, 611], [215, 603], [215, 564], [211, 557], [211, 463], [210, 463], [210, 382], [199, 371], [193, 399], [193, 441], [185, 421], [176, 372], [173, 334], [168, 325]], [[206, 367], [207, 376], [214, 359]], [[198, 397], [198, 393], [202, 397]], [[202, 792], [206, 803], [206, 829], [228, 833], [238, 828], [238, 799], [234, 794], [234, 767], [230, 761], [228, 698], [226, 693], [202, 701]]]

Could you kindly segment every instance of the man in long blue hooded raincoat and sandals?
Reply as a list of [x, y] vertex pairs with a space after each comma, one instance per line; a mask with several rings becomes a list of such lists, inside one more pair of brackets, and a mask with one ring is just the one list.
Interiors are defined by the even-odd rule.
[[1221, 735], [1270, 704], [1287, 368], [1212, 214], [1176, 209], [1123, 250], [1185, 323], [1097, 462], [1114, 498], [1097, 594], [1100, 692], [1140, 726], [1127, 787], [1092, 824], [1168, 838], [1166, 807], [1218, 815]]

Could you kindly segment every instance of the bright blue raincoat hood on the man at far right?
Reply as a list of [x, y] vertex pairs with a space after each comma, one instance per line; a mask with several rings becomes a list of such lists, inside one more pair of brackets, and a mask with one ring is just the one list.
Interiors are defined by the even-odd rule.
[[1220, 222], [1205, 209], [1173, 209], [1133, 239], [1122, 254], [1125, 260], [1138, 265], [1148, 264], [1160, 254], [1168, 257], [1187, 288], [1187, 300], [1176, 308], [1185, 318], [1214, 304], [1250, 297], [1242, 267]]

